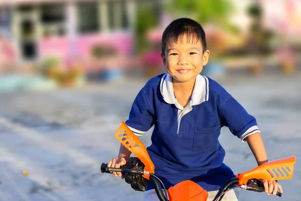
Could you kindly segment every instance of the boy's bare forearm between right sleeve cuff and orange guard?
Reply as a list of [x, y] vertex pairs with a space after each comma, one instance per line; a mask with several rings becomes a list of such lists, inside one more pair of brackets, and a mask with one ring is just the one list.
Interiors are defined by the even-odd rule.
[[268, 161], [264, 144], [259, 132], [249, 135], [245, 138], [258, 165]]

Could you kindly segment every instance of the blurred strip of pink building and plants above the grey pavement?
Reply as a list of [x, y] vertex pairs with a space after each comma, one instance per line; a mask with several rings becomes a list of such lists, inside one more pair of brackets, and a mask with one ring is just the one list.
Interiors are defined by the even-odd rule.
[[300, 63], [301, 6], [293, 0], [13, 0], [1, 1], [0, 9], [4, 89], [17, 82], [22, 88], [77, 86], [132, 71], [153, 77], [165, 71], [163, 30], [178, 17], [204, 27], [208, 76], [268, 67], [291, 74]]

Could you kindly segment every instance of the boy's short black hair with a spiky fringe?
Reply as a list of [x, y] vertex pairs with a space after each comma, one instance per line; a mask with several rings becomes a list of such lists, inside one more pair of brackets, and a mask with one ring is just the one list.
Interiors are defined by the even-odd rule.
[[163, 32], [162, 35], [162, 54], [165, 54], [165, 48], [167, 43], [182, 41], [183, 37], [192, 40], [192, 42], [198, 42], [201, 40], [203, 46], [203, 53], [207, 50], [206, 35], [203, 27], [190, 18], [179, 18], [171, 22]]

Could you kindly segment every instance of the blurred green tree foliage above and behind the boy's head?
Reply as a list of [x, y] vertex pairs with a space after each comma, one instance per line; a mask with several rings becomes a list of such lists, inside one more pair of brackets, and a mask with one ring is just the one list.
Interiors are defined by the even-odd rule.
[[237, 32], [227, 17], [234, 11], [230, 0], [152, 0], [138, 3], [136, 20], [136, 50], [147, 49], [146, 32], [158, 27], [163, 12], [173, 17], [189, 17], [200, 24], [214, 23], [229, 32]]

